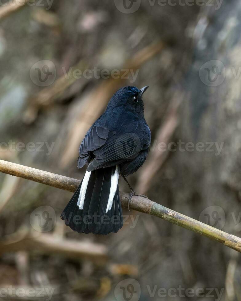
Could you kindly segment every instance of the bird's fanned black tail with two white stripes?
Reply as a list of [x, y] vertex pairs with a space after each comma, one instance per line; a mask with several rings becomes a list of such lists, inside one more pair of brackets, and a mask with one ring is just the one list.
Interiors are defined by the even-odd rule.
[[119, 167], [86, 171], [80, 186], [61, 214], [78, 233], [106, 235], [123, 225], [119, 195]]

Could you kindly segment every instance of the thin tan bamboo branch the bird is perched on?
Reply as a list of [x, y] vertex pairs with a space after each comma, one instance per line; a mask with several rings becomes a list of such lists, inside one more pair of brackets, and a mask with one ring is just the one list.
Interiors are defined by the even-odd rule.
[[[47, 171], [38, 170], [3, 160], [0, 160], [0, 172], [71, 192], [74, 192], [80, 184], [80, 181], [76, 179], [68, 178], [58, 174], [52, 174]], [[129, 194], [120, 192], [120, 197], [122, 206], [128, 208]], [[130, 208], [139, 212], [160, 217], [165, 221], [169, 221], [175, 225], [181, 226], [200, 235], [207, 236], [212, 240], [216, 240], [229, 248], [241, 252], [241, 238], [225, 233], [219, 229], [215, 229], [200, 221], [196, 221], [191, 217], [168, 209], [144, 197], [133, 196], [130, 203]]]

